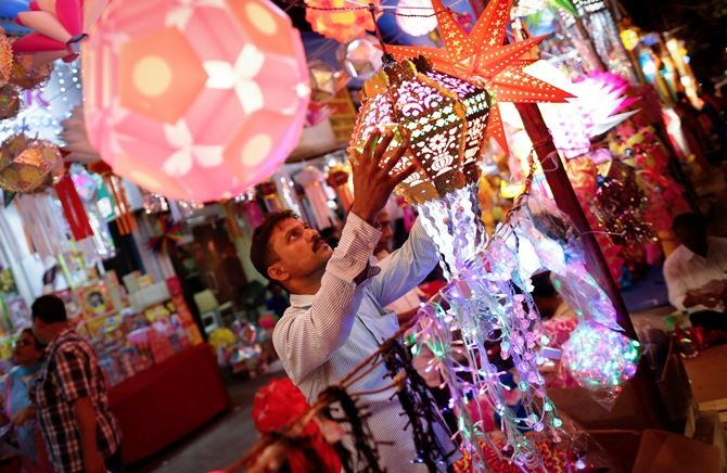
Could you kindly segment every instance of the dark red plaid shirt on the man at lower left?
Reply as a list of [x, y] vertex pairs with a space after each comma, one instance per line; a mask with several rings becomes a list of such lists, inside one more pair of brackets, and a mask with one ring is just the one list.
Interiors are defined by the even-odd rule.
[[116, 452], [122, 432], [109, 411], [106, 383], [91, 345], [73, 329], [61, 332], [48, 345], [36, 378], [38, 420], [53, 470], [84, 471], [80, 431], [74, 404], [90, 398], [95, 408], [95, 440], [104, 458]]

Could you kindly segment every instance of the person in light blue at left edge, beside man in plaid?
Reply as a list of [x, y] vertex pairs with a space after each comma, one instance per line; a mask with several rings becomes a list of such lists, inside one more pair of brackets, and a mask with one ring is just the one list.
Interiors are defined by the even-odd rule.
[[34, 378], [41, 367], [43, 346], [25, 329], [15, 342], [13, 368], [0, 385], [5, 422], [13, 424], [15, 439], [21, 456], [21, 471], [24, 473], [48, 473], [51, 465], [46, 451], [40, 429], [36, 421], [36, 410], [30, 401]]

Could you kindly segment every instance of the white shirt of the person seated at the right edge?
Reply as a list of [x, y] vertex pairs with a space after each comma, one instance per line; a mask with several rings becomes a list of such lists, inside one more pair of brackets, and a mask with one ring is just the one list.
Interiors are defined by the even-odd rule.
[[687, 292], [698, 290], [712, 281], [727, 280], [727, 239], [709, 237], [706, 257], [702, 257], [685, 245], [679, 245], [664, 261], [664, 279], [668, 289], [669, 303], [679, 310], [724, 310], [702, 305], [685, 307]]

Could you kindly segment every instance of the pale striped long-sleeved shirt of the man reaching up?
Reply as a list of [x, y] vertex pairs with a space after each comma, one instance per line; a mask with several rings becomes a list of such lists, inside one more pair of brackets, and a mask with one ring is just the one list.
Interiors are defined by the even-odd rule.
[[[436, 247], [419, 222], [383, 270], [369, 265], [380, 238], [378, 229], [349, 214], [320, 290], [315, 295], [291, 294], [291, 307], [276, 325], [276, 350], [288, 375], [309, 401], [339, 383], [398, 330], [396, 315], [384, 307], [416, 286], [437, 264]], [[355, 279], [365, 270], [366, 280], [356, 284]], [[380, 365], [349, 392], [378, 391], [391, 382]], [[408, 419], [400, 416], [403, 408], [395, 391], [366, 395], [362, 401], [371, 414], [371, 433], [383, 443], [378, 447], [381, 466], [391, 472], [426, 471], [423, 464], [412, 464], [417, 451], [411, 427], [405, 430]], [[444, 423], [437, 426], [437, 433], [445, 451], [452, 451]], [[344, 443], [352, 448], [350, 438], [344, 438]]]

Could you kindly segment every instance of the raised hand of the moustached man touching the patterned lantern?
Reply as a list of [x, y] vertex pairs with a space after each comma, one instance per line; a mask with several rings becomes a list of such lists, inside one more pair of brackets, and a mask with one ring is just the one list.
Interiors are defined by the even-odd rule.
[[375, 225], [377, 216], [386, 205], [394, 188], [414, 171], [412, 165], [400, 172], [390, 174], [404, 156], [407, 143], [401, 144], [385, 164], [382, 163], [386, 148], [393, 138], [393, 131], [388, 131], [382, 138], [381, 132], [377, 130], [367, 140], [364, 152], [350, 158], [356, 196], [350, 212], [371, 225]]

